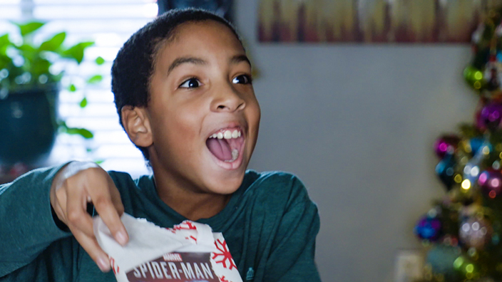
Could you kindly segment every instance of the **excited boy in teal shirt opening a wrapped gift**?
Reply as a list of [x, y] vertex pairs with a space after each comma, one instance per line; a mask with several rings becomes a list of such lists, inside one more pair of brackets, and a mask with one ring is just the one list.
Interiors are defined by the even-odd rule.
[[0, 281], [115, 281], [89, 204], [122, 245], [123, 212], [163, 227], [190, 219], [222, 232], [243, 281], [319, 281], [319, 216], [303, 184], [246, 171], [260, 108], [230, 23], [196, 9], [160, 16], [119, 51], [112, 90], [153, 176], [70, 162], [0, 186]]

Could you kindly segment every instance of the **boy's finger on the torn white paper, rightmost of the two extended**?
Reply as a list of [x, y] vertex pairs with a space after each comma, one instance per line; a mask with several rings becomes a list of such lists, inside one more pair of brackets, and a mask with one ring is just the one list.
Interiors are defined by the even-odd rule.
[[[110, 229], [113, 237], [118, 241], [118, 244], [125, 245], [128, 241], [126, 228], [123, 226], [121, 217], [118, 215], [116, 207], [111, 201], [108, 189], [93, 189], [94, 192], [90, 193], [93, 199], [94, 208], [98, 211], [99, 216], [103, 222]], [[98, 190], [98, 192], [96, 192]]]

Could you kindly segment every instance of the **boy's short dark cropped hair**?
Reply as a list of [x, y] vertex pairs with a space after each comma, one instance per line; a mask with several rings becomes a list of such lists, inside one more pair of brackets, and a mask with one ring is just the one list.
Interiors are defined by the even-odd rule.
[[[224, 24], [242, 44], [232, 23], [203, 9], [173, 9], [147, 23], [124, 43], [111, 67], [111, 90], [115, 96], [118, 121], [122, 127], [124, 125], [121, 110], [124, 106], [148, 106], [150, 79], [160, 47], [175, 36], [175, 29], [182, 23], [198, 21], [216, 21]], [[145, 147], [136, 147], [146, 160], [150, 160]]]

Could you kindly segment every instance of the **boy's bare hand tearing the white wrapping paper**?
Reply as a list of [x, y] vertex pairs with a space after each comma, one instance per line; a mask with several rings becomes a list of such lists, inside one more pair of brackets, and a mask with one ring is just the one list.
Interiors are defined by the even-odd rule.
[[128, 234], [120, 219], [124, 207], [110, 175], [93, 162], [67, 164], [53, 179], [51, 205], [58, 219], [68, 226], [101, 271], [106, 272], [110, 270], [110, 262], [94, 236], [93, 219], [86, 211], [89, 202], [118, 243], [125, 245]]

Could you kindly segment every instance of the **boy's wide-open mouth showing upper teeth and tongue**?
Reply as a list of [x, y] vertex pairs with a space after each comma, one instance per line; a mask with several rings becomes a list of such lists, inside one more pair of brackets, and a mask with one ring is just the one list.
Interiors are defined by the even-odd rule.
[[242, 153], [244, 135], [240, 127], [225, 128], [210, 135], [205, 144], [217, 160], [235, 162]]

